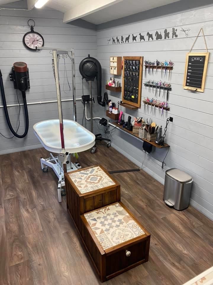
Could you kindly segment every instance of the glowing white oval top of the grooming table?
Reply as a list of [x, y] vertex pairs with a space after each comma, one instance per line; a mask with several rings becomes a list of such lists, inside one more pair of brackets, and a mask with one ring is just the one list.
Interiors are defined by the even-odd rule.
[[[86, 151], [95, 144], [95, 135], [72, 120], [63, 120], [64, 145], [69, 153]], [[33, 126], [36, 137], [46, 150], [60, 153], [61, 136], [59, 120], [42, 121]]]

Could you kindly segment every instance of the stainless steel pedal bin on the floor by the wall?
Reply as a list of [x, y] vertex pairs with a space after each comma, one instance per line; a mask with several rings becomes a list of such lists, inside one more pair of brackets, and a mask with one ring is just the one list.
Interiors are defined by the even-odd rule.
[[165, 173], [163, 200], [169, 207], [176, 210], [188, 208], [191, 194], [192, 177], [177, 169], [168, 169]]

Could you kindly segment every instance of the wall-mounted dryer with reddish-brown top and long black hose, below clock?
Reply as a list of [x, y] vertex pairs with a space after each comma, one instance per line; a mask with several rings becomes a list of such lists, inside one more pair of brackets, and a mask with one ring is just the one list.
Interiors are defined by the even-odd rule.
[[14, 88], [19, 89], [22, 92], [23, 103], [24, 103], [24, 110], [25, 110], [25, 132], [22, 135], [17, 134], [14, 131], [7, 110], [7, 102], [4, 93], [4, 85], [2, 80], [2, 74], [0, 70], [0, 90], [2, 96], [2, 103], [4, 106], [4, 113], [7, 120], [7, 124], [9, 126], [10, 131], [15, 137], [23, 138], [28, 133], [29, 129], [29, 118], [28, 118], [28, 108], [27, 108], [27, 101], [26, 101], [26, 93], [27, 89], [30, 89], [30, 79], [29, 79], [29, 71], [27, 64], [25, 62], [15, 62], [12, 66], [12, 73], [10, 73], [10, 80], [14, 82]]

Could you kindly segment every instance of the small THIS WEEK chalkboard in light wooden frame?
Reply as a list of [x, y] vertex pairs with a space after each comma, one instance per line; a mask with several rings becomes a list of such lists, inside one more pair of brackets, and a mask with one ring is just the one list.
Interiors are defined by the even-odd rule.
[[209, 53], [187, 53], [183, 89], [204, 92]]

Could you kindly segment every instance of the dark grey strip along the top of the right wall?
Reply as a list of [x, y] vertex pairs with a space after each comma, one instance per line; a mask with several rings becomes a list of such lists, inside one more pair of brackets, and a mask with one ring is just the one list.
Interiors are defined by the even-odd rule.
[[180, 13], [182, 11], [186, 11], [188, 9], [194, 9], [198, 7], [203, 7], [205, 5], [212, 5], [212, 0], [181, 0], [178, 2], [174, 2], [168, 5], [164, 5], [158, 8], [150, 9], [148, 11], [143, 11], [137, 14], [133, 14], [130, 16], [126, 16], [123, 18], [119, 18], [116, 20], [112, 20], [106, 23], [102, 23], [99, 25], [96, 25], [96, 30], [104, 30], [104, 29], [110, 29], [115, 28], [117, 26], [127, 25], [135, 22], [140, 22], [144, 20], [148, 20], [151, 18], [158, 18], [163, 17], [165, 15], [171, 14], [171, 13]]

